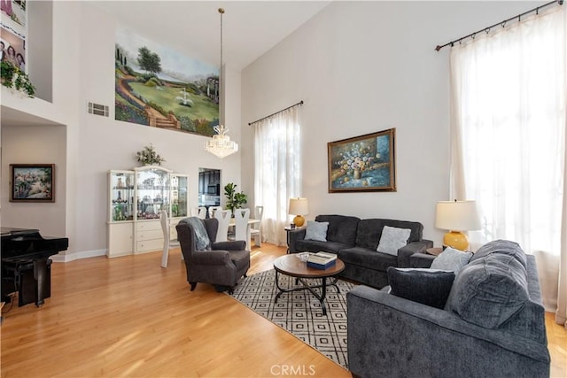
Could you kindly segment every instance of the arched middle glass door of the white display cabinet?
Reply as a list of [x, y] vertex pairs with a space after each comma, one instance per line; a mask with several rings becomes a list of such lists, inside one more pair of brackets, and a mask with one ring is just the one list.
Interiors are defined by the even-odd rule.
[[136, 219], [153, 220], [159, 212], [169, 213], [169, 174], [167, 169], [141, 167], [136, 169]]

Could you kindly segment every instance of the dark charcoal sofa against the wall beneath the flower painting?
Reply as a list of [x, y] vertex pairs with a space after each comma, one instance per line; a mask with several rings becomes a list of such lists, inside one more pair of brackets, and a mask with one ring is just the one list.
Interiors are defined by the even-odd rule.
[[[375, 288], [388, 284], [389, 266], [408, 267], [409, 258], [433, 246], [423, 240], [423, 225], [406, 220], [366, 219], [346, 215], [317, 215], [315, 221], [329, 222], [327, 241], [306, 240], [306, 229], [289, 234], [290, 253], [325, 251], [336, 253], [345, 263], [343, 278]], [[398, 256], [377, 251], [384, 226], [409, 228], [408, 244], [398, 250]]]

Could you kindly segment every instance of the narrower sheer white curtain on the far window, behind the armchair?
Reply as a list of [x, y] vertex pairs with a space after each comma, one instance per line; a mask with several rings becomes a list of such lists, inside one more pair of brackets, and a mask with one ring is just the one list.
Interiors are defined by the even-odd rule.
[[287, 243], [284, 227], [290, 224], [290, 197], [301, 193], [299, 106], [279, 112], [254, 125], [254, 197], [264, 206], [262, 239]]

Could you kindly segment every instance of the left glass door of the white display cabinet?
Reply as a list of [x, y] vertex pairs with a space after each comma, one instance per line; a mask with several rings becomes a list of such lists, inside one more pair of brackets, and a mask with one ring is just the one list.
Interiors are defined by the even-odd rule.
[[110, 171], [109, 221], [120, 222], [134, 219], [134, 172]]

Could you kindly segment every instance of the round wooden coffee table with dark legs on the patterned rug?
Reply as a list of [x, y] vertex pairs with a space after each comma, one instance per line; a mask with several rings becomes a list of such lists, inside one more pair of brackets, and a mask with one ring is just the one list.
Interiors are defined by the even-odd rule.
[[[311, 294], [313, 294], [319, 302], [321, 302], [322, 314], [327, 315], [327, 308], [325, 307], [325, 296], [327, 295], [327, 286], [335, 286], [338, 291], [337, 281], [338, 277], [337, 274], [341, 273], [345, 270], [345, 263], [337, 258], [337, 263], [334, 266], [331, 266], [328, 269], [315, 269], [312, 267], [307, 267], [307, 262], [301, 261], [297, 254], [292, 253], [290, 255], [281, 256], [274, 260], [274, 269], [276, 269], [276, 287], [280, 290], [279, 293], [276, 295], [276, 299], [274, 303], [277, 303], [277, 299], [283, 293], [289, 293], [290, 291], [297, 291], [297, 290], [309, 290]], [[283, 289], [280, 287], [278, 281], [278, 275], [285, 274], [291, 277], [297, 278], [296, 282], [301, 282], [302, 286], [291, 288], [291, 289]], [[305, 279], [318, 279], [322, 280], [321, 285], [309, 286]], [[333, 281], [327, 283], [327, 278], [334, 278]], [[314, 289], [321, 288], [321, 294], [317, 293]]]

